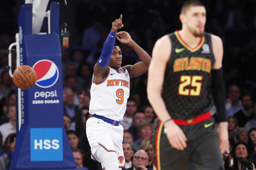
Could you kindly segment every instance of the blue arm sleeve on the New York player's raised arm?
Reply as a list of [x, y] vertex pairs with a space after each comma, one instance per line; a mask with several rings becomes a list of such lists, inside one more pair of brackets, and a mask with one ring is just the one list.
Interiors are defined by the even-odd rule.
[[99, 57], [98, 65], [101, 67], [106, 67], [109, 64], [109, 60], [111, 58], [113, 48], [115, 45], [115, 36], [116, 32], [110, 31], [109, 35], [107, 36], [107, 39], [105, 41], [105, 44], [103, 46], [103, 49], [101, 51], [101, 56]]

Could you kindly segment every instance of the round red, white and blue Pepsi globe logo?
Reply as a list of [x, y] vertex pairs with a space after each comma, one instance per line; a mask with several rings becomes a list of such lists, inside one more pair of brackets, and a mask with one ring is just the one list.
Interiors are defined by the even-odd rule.
[[53, 86], [59, 78], [59, 70], [56, 64], [50, 60], [37, 61], [33, 69], [37, 73], [37, 86], [48, 88]]

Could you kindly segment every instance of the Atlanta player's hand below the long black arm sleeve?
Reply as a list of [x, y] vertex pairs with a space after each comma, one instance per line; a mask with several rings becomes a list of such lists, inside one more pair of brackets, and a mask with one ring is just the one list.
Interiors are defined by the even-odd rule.
[[227, 131], [227, 126], [227, 122], [220, 122], [217, 128], [217, 133], [219, 135], [219, 146], [222, 154], [227, 148], [229, 148], [229, 133]]

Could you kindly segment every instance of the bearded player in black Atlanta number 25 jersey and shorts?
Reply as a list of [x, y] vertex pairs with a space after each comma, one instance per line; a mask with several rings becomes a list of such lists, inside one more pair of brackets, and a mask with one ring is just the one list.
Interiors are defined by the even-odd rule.
[[[201, 2], [186, 1], [179, 18], [182, 29], [155, 43], [149, 66], [147, 95], [159, 118], [153, 126], [154, 168], [186, 170], [193, 162], [198, 170], [224, 169], [221, 152], [229, 142], [222, 40], [204, 32]], [[220, 119], [217, 132], [211, 94]]]

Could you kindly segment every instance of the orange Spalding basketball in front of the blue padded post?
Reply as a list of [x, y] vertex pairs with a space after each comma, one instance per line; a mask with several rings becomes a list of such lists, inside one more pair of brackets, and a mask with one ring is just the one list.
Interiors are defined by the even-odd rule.
[[29, 89], [35, 85], [36, 81], [37, 73], [28, 65], [19, 66], [13, 72], [13, 82], [18, 88]]

